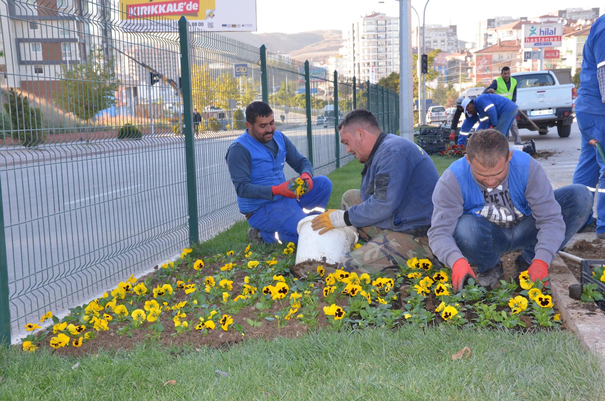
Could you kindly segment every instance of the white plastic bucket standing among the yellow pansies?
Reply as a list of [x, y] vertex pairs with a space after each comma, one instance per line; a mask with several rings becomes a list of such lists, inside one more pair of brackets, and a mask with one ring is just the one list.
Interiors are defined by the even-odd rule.
[[[313, 231], [311, 220], [317, 217], [307, 216], [298, 222], [298, 246], [296, 247], [296, 264], [302, 262], [322, 262], [338, 265], [347, 252], [353, 249], [358, 240], [357, 230], [352, 227], [335, 228], [319, 235]], [[325, 258], [325, 259], [324, 259]]]

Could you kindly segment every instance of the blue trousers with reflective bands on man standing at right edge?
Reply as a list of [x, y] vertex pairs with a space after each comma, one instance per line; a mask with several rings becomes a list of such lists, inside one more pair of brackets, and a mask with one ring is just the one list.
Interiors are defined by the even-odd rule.
[[[580, 159], [574, 171], [574, 184], [586, 185], [594, 195], [597, 193], [597, 234], [605, 233], [605, 162], [597, 154], [594, 146], [588, 142], [597, 139], [605, 146], [605, 116], [581, 113], [577, 111], [575, 118], [582, 134]], [[598, 190], [597, 190], [598, 184]], [[586, 225], [592, 222], [592, 213]]]

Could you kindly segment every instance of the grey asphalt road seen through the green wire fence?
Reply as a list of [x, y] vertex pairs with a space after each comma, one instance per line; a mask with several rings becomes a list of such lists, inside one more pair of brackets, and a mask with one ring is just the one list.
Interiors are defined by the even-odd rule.
[[[308, 156], [306, 127], [283, 131]], [[195, 141], [201, 239], [241, 219], [224, 161], [236, 137]], [[333, 170], [333, 130], [313, 127], [313, 148], [316, 174]], [[188, 244], [183, 137], [3, 148], [0, 182], [13, 338]]]

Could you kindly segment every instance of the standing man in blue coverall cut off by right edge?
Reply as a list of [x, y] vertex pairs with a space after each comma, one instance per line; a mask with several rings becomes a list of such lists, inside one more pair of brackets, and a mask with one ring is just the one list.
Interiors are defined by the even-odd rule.
[[[597, 193], [597, 219], [589, 216], [583, 231], [597, 231], [605, 239], [605, 162], [588, 142], [597, 139], [605, 145], [605, 19], [601, 16], [590, 28], [582, 51], [580, 90], [575, 101], [575, 118], [582, 134], [580, 160], [574, 184], [586, 185]], [[597, 190], [598, 184], [598, 190]]]

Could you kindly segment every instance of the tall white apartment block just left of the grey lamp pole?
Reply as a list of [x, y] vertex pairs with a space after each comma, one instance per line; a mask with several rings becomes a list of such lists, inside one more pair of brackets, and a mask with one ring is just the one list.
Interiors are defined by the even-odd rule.
[[399, 71], [399, 18], [371, 13], [345, 27], [342, 36], [342, 74], [378, 81]]

